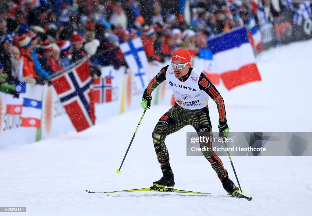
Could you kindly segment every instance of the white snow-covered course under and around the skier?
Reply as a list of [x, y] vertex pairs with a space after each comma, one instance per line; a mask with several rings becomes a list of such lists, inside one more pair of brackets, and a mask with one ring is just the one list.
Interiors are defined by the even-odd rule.
[[[232, 91], [217, 86], [232, 132], [311, 132], [312, 40], [257, 56], [262, 82]], [[217, 131], [218, 114], [210, 101]], [[169, 106], [146, 112], [120, 174], [116, 174], [143, 110], [77, 134], [0, 150], [0, 207], [26, 207], [27, 215], [310, 215], [312, 157], [232, 157], [248, 202], [226, 197], [204, 157], [186, 156], [188, 126], [166, 139], [175, 188], [209, 195], [88, 194], [149, 187], [161, 177], [151, 133]], [[221, 157], [234, 182], [228, 157]], [[6, 213], [0, 213], [6, 214]], [[10, 215], [24, 215], [11, 213]]]

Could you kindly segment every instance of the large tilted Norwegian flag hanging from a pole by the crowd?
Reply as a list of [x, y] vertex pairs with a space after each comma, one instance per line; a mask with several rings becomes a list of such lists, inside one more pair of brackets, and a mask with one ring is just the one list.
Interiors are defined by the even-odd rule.
[[95, 123], [95, 108], [87, 60], [51, 81], [76, 130], [91, 127]]

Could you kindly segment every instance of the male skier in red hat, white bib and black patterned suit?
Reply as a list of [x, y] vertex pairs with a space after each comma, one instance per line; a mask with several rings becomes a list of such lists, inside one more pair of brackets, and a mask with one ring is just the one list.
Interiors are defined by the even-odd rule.
[[[186, 125], [192, 125], [198, 136], [209, 132], [212, 136], [212, 125], [208, 111], [208, 96], [217, 104], [219, 112], [219, 136], [227, 137], [230, 128], [227, 125], [223, 98], [216, 87], [209, 81], [202, 69], [191, 67], [191, 55], [185, 49], [173, 53], [172, 62], [163, 67], [149, 82], [142, 96], [142, 108], [149, 109], [152, 92], [163, 81], [167, 81], [173, 89], [175, 103], [158, 121], [152, 133], [154, 148], [160, 163], [163, 177], [155, 181], [155, 187], [173, 187], [174, 176], [169, 163], [169, 153], [164, 142], [165, 138]], [[206, 135], [206, 134], [205, 134]], [[200, 147], [205, 143], [200, 143]], [[206, 144], [207, 145], [207, 144]], [[216, 171], [223, 188], [234, 196], [239, 191], [228, 177], [221, 159], [212, 151], [212, 143], [208, 143], [210, 151], [202, 152]]]

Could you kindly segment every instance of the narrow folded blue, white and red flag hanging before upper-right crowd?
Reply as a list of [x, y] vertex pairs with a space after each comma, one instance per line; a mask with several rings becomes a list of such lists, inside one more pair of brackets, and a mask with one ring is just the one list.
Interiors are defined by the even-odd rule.
[[249, 33], [249, 39], [251, 46], [256, 48], [258, 52], [261, 51], [261, 32], [259, 28], [259, 24], [256, 23], [256, 19], [252, 14], [248, 23], [246, 24]]

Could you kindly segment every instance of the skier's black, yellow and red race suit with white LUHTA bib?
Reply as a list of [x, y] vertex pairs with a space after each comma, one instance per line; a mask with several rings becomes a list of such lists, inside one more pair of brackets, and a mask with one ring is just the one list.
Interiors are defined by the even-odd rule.
[[[163, 167], [169, 165], [169, 153], [164, 142], [169, 134], [177, 132], [187, 125], [192, 125], [198, 136], [207, 136], [208, 132], [212, 137], [212, 125], [208, 110], [209, 97], [217, 104], [219, 122], [223, 124], [227, 122], [223, 98], [202, 69], [190, 67], [188, 73], [178, 79], [175, 77], [171, 65], [167, 65], [149, 82], [144, 93], [150, 96], [156, 87], [165, 80], [173, 89], [175, 103], [158, 120], [152, 133], [154, 148], [162, 170]], [[223, 167], [221, 159], [212, 151], [212, 143], [200, 143], [200, 148], [204, 146], [211, 149], [202, 151], [202, 153], [218, 177], [226, 178], [227, 171]]]

